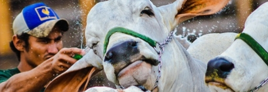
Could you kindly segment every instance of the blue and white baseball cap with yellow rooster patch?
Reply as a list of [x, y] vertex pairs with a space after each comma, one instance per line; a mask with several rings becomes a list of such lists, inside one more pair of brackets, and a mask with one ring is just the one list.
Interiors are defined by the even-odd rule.
[[60, 19], [52, 8], [43, 2], [26, 6], [13, 21], [13, 33], [21, 35], [27, 33], [35, 37], [46, 37], [57, 25], [62, 31], [69, 29], [66, 19]]

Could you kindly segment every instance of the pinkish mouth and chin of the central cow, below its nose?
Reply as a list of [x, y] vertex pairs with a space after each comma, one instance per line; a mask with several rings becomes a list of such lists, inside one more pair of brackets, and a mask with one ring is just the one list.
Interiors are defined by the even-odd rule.
[[158, 63], [158, 60], [145, 59], [134, 61], [133, 63], [125, 66], [116, 75], [120, 86], [123, 86], [124, 88], [137, 86], [144, 92], [147, 91], [143, 84], [147, 81], [148, 76], [151, 73], [152, 65], [156, 66]]

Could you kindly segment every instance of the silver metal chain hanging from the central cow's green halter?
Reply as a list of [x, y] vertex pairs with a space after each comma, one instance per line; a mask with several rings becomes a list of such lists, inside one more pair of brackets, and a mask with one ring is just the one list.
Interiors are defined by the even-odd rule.
[[[154, 47], [154, 50], [155, 50], [155, 51], [157, 52], [157, 54], [158, 54], [158, 61], [159, 61], [159, 64], [158, 64], [157, 79], [156, 79], [156, 81], [155, 81], [155, 83], [154, 83], [153, 89], [154, 89], [155, 87], [158, 86], [159, 78], [160, 78], [160, 76], [161, 76], [161, 66], [162, 66], [161, 56], [162, 56], [162, 53], [164, 52], [164, 48], [163, 48], [163, 47], [164, 47], [168, 42], [170, 42], [170, 41], [172, 40], [173, 32], [174, 32], [174, 31], [171, 31], [171, 32], [169, 33], [169, 35], [167, 36], [167, 38], [164, 40], [163, 43], [158, 43], [158, 46], [159, 46], [159, 48], [160, 48], [160, 51], [157, 51], [156, 48]], [[153, 91], [153, 89], [152, 89], [151, 91]]]

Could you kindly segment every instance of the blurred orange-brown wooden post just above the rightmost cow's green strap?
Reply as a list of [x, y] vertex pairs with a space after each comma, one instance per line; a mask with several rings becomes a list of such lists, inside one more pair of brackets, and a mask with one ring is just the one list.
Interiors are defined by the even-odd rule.
[[236, 1], [236, 14], [237, 14], [237, 23], [239, 27], [239, 33], [243, 31], [244, 24], [247, 17], [252, 12], [252, 0], [235, 0]]

